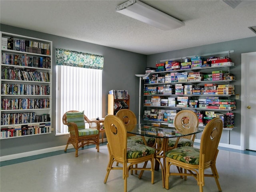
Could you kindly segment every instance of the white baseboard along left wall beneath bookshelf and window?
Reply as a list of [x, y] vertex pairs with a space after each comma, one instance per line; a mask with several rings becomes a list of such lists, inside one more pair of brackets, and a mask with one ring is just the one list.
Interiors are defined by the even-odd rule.
[[[107, 139], [104, 138], [103, 142], [106, 142]], [[100, 139], [101, 142], [101, 139]], [[66, 145], [63, 146], [58, 146], [58, 147], [51, 147], [51, 148], [45, 148], [45, 149], [40, 149], [40, 150], [35, 150], [35, 151], [28, 151], [24, 153], [17, 153], [17, 154], [12, 154], [12, 155], [6, 155], [6, 156], [1, 156], [0, 157], [0, 162], [1, 161], [8, 161], [12, 159], [18, 159], [22, 157], [28, 157], [28, 156], [33, 156], [33, 155], [39, 155], [39, 154], [44, 154], [44, 153], [49, 153], [49, 152], [54, 152], [54, 151], [60, 151], [64, 150]], [[68, 149], [74, 148], [71, 144], [68, 145]]]

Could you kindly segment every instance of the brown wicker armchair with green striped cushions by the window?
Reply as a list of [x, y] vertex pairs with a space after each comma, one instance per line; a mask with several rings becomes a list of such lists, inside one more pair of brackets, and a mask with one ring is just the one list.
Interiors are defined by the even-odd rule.
[[[72, 115], [78, 115], [72, 118]], [[70, 118], [67, 116], [70, 116]], [[79, 119], [80, 118], [80, 119]], [[75, 119], [75, 120], [74, 120]], [[79, 124], [78, 120], [79, 119]], [[73, 121], [74, 120], [74, 121]], [[62, 117], [62, 122], [64, 125], [68, 126], [69, 130], [69, 138], [65, 148], [65, 152], [68, 148], [68, 144], [72, 144], [76, 149], [75, 156], [78, 156], [78, 149], [80, 147], [84, 148], [84, 145], [87, 144], [95, 144], [97, 152], [100, 150], [100, 122], [97, 120], [89, 120], [85, 115], [84, 112], [79, 111], [68, 111]], [[88, 124], [89, 128], [85, 128], [85, 124]]]

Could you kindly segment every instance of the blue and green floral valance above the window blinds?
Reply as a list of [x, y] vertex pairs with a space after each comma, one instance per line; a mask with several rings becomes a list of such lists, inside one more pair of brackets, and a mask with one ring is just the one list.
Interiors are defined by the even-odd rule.
[[104, 57], [90, 53], [56, 49], [56, 64], [103, 70]]

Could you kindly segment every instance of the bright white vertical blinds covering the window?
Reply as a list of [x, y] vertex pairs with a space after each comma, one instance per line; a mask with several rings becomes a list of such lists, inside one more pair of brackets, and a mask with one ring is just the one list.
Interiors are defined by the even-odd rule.
[[102, 117], [102, 70], [58, 65], [56, 134], [68, 133], [62, 116], [69, 110], [83, 111], [89, 118]]

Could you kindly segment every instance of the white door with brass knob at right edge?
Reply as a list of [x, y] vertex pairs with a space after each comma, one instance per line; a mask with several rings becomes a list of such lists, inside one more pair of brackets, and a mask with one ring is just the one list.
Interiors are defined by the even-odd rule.
[[256, 52], [243, 53], [241, 60], [241, 133], [244, 149], [256, 151]]

